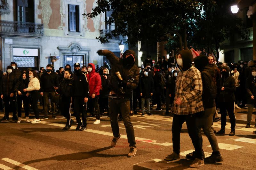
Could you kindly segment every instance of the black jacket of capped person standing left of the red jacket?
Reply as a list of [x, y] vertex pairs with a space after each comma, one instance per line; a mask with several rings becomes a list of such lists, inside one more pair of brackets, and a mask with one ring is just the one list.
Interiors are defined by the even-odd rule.
[[74, 73], [73, 96], [87, 97], [89, 96], [89, 85], [86, 76], [81, 73]]

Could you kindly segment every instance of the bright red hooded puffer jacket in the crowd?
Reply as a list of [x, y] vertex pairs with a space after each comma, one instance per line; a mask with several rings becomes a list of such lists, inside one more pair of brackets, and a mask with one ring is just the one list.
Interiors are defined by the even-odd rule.
[[[100, 88], [101, 88], [101, 78], [100, 78], [100, 74], [99, 73], [95, 73], [95, 65], [92, 63], [88, 64], [88, 67], [91, 66], [92, 67], [92, 71], [91, 73], [88, 72], [88, 74], [86, 74], [86, 77], [88, 79], [88, 84], [89, 84], [89, 96], [91, 97], [92, 94], [100, 95]], [[87, 67], [87, 70], [88, 70]]]

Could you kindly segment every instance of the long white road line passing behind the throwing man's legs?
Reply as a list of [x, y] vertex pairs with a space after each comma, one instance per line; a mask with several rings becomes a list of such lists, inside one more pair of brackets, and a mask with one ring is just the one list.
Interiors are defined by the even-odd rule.
[[[45, 122], [45, 121], [41, 121], [41, 124], [48, 124], [48, 125], [52, 125], [52, 126], [63, 127], [63, 124], [55, 124], [55, 123], [50, 123], [50, 122]], [[70, 129], [76, 129], [76, 127], [71, 126]], [[113, 133], [106, 132], [106, 131], [98, 131], [98, 130], [93, 130], [93, 129], [87, 129], [84, 132], [97, 133], [97, 134], [113, 137]], [[121, 134], [121, 138], [127, 139], [127, 136]], [[150, 144], [156, 144], [156, 145], [172, 146], [172, 143], [169, 143], [169, 142], [161, 143], [160, 141], [156, 141], [156, 140], [152, 140], [152, 139], [146, 139], [146, 138], [135, 137], [135, 140], [140, 141], [140, 142], [150, 143]]]

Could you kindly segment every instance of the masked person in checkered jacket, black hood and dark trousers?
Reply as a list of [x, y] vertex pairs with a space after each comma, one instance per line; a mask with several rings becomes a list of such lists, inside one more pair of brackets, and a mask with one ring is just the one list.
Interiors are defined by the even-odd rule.
[[204, 165], [202, 136], [196, 123], [198, 116], [204, 111], [201, 73], [192, 66], [193, 55], [190, 50], [181, 50], [176, 56], [180, 73], [176, 79], [176, 92], [171, 109], [173, 153], [164, 159], [168, 161], [180, 159], [180, 131], [186, 121], [188, 134], [195, 148], [195, 160], [190, 167], [199, 167]]

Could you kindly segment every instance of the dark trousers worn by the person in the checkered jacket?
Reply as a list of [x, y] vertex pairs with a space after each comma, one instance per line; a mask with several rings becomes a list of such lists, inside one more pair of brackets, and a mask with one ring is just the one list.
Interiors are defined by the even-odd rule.
[[[196, 113], [197, 114], [197, 113]], [[198, 129], [198, 124], [196, 114], [193, 115], [173, 115], [172, 121], [172, 146], [173, 152], [180, 153], [180, 131], [182, 124], [186, 121], [188, 135], [192, 140], [192, 143], [195, 148], [195, 157], [203, 159], [203, 148], [202, 148], [202, 135]]]

